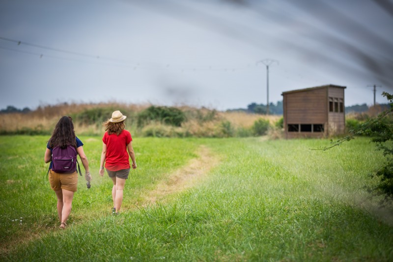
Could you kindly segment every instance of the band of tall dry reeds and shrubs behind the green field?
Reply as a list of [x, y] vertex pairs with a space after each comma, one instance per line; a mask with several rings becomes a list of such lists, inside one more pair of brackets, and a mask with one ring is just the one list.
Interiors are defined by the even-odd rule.
[[[267, 119], [274, 126], [281, 116], [248, 114], [246, 112], [220, 112], [208, 108], [177, 107], [186, 116], [181, 127], [172, 127], [152, 121], [137, 126], [137, 116], [151, 105], [109, 103], [63, 103], [40, 106], [28, 113], [0, 114], [0, 134], [49, 135], [60, 116], [72, 116], [78, 135], [102, 135], [102, 122], [110, 112], [121, 110], [127, 115], [126, 125], [139, 136], [158, 137], [232, 137], [252, 136], [252, 126], [258, 119]], [[97, 113], [95, 113], [97, 112]], [[105, 113], [103, 113], [105, 112]], [[85, 113], [85, 114], [84, 114]], [[84, 114], [82, 116], [82, 114]], [[102, 114], [105, 117], [101, 116]], [[97, 117], [97, 115], [100, 115]], [[107, 116], [108, 115], [108, 116]], [[94, 118], [97, 117], [97, 120]], [[87, 120], [86, 120], [87, 118]], [[104, 119], [105, 118], [105, 119]], [[243, 135], [239, 135], [239, 134]]]

